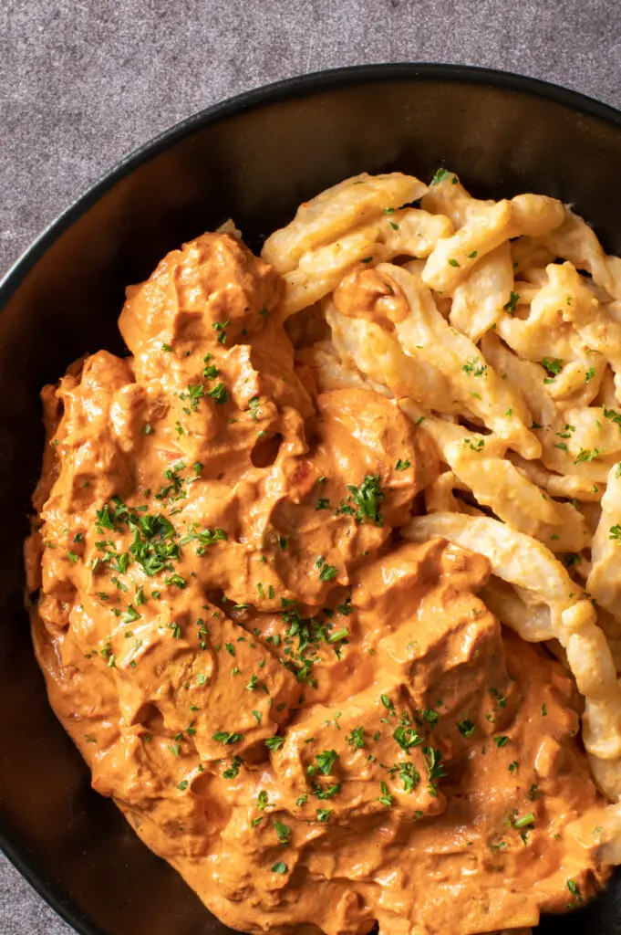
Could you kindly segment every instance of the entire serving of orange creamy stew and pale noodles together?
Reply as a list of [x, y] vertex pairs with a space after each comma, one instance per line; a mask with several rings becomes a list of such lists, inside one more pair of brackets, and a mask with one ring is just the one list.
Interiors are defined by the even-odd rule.
[[44, 389], [50, 702], [226, 924], [524, 931], [621, 862], [620, 313], [555, 199], [363, 174]]

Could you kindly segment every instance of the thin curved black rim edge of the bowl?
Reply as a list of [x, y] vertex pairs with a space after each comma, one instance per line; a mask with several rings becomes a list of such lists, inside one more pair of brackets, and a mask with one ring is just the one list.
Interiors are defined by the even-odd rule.
[[[61, 213], [51, 221], [31, 242], [21, 256], [8, 267], [0, 279], [0, 312], [7, 305], [10, 297], [19, 289], [21, 282], [49, 247], [61, 237], [68, 228], [78, 221], [86, 211], [106, 192], [124, 179], [139, 165], [148, 163], [162, 151], [175, 145], [192, 133], [211, 123], [236, 116], [247, 110], [261, 108], [266, 104], [276, 104], [294, 97], [304, 97], [320, 91], [334, 91], [339, 88], [361, 84], [367, 81], [384, 82], [394, 79], [412, 81], [426, 79], [445, 79], [453, 83], [487, 85], [510, 92], [543, 97], [549, 101], [579, 113], [611, 124], [621, 131], [621, 109], [604, 104], [593, 97], [573, 91], [543, 79], [530, 78], [516, 72], [476, 65], [459, 65], [442, 62], [399, 62], [374, 63], [371, 65], [346, 65], [322, 69], [304, 75], [259, 85], [249, 91], [235, 94], [218, 101], [207, 108], [196, 111], [150, 138], [107, 169], [97, 180], [80, 192]], [[106, 935], [89, 919], [80, 918], [77, 907], [68, 903], [59, 891], [59, 886], [43, 879], [31, 866], [26, 851], [0, 827], [0, 851], [7, 856], [13, 867], [35, 889], [35, 892], [48, 903], [78, 935]]]

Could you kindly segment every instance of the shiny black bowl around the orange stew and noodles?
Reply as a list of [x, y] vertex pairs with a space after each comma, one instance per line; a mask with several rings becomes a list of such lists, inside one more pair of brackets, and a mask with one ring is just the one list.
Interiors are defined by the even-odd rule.
[[[124, 286], [232, 216], [249, 244], [304, 198], [362, 170], [482, 197], [572, 202], [621, 252], [621, 114], [579, 94], [450, 65], [292, 79], [209, 108], [148, 143], [53, 223], [0, 285], [0, 845], [84, 935], [226, 931], [150, 854], [49, 709], [22, 607], [21, 542], [42, 452], [38, 393], [85, 351], [121, 352]], [[543, 933], [621, 932], [621, 880]]]

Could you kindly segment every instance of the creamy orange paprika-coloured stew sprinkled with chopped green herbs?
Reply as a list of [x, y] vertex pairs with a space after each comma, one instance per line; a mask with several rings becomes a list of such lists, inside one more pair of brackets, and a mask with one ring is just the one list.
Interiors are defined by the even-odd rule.
[[318, 394], [280, 295], [199, 237], [128, 290], [131, 356], [44, 390], [26, 554], [50, 702], [234, 928], [535, 925], [605, 875], [565, 833], [601, 804], [575, 687], [477, 597], [486, 559], [400, 539], [429, 437], [371, 391]]

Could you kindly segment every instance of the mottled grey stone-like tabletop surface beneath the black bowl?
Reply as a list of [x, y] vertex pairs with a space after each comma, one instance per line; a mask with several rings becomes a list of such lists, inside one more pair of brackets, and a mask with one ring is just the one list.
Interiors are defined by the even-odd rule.
[[[621, 5], [3, 0], [0, 275], [120, 156], [194, 111], [303, 72], [407, 61], [503, 68], [621, 108]], [[0, 855], [0, 935], [72, 931]]]

